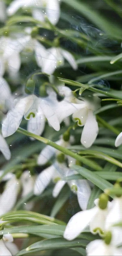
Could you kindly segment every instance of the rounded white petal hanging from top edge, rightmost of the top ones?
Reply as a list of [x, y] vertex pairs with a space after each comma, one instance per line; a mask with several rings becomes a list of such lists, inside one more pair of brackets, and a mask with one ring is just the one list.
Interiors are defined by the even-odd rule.
[[56, 24], [60, 17], [60, 5], [57, 0], [47, 2], [46, 15], [52, 24]]

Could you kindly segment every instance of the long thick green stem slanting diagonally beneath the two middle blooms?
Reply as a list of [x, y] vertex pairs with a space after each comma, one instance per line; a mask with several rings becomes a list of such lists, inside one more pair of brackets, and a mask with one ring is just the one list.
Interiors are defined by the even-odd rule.
[[43, 143], [45, 143], [45, 144], [47, 144], [49, 146], [52, 146], [55, 149], [63, 152], [64, 154], [66, 154], [68, 156], [71, 156], [71, 157], [75, 158], [76, 160], [79, 160], [83, 164], [86, 164], [87, 166], [89, 166], [89, 167], [91, 167], [91, 168], [93, 168], [93, 169], [95, 169], [97, 171], [101, 171], [102, 170], [102, 168], [100, 166], [96, 166], [96, 163], [91, 162], [91, 160], [85, 159], [84, 157], [79, 156], [77, 153], [74, 153], [74, 152], [68, 150], [67, 148], [64, 148], [62, 146], [57, 145], [56, 143], [52, 142], [51, 140], [48, 140], [48, 139], [45, 139], [45, 138], [43, 138], [41, 136], [35, 135], [35, 134], [33, 134], [31, 132], [28, 132], [25, 129], [22, 129], [20, 127], [18, 128], [17, 131], [22, 133], [22, 134], [24, 134], [24, 135], [26, 135], [26, 136], [32, 137], [34, 139], [37, 139], [37, 140], [39, 140], [39, 141], [41, 141], [41, 142], [43, 142]]

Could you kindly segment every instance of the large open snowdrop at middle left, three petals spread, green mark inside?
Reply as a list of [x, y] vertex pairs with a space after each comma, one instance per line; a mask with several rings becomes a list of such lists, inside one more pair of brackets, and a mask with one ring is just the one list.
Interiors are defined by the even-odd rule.
[[28, 124], [29, 132], [40, 135], [44, 130], [45, 117], [48, 123], [56, 131], [59, 131], [60, 123], [52, 106], [53, 102], [48, 97], [38, 98], [35, 95], [30, 95], [19, 99], [15, 107], [8, 111], [7, 117], [3, 121], [3, 136], [7, 137], [16, 132], [23, 116], [26, 120], [30, 119], [30, 123]]

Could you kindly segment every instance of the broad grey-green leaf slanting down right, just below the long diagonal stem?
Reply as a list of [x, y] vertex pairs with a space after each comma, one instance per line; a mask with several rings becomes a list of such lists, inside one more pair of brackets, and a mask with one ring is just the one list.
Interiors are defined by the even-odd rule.
[[104, 191], [104, 189], [112, 188], [113, 185], [106, 181], [105, 179], [98, 176], [95, 172], [89, 171], [84, 167], [80, 167], [78, 165], [73, 165], [72, 168], [76, 170], [79, 174], [84, 176], [84, 178], [90, 180], [94, 185]]

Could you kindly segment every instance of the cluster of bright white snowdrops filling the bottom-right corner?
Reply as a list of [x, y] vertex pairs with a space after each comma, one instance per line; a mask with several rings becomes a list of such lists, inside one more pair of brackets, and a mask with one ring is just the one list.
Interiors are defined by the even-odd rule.
[[103, 240], [93, 240], [86, 247], [87, 256], [122, 255], [122, 197], [116, 196], [112, 202], [101, 194], [94, 201], [94, 208], [76, 213], [68, 222], [64, 238], [73, 240], [89, 225], [90, 232], [98, 233]]

